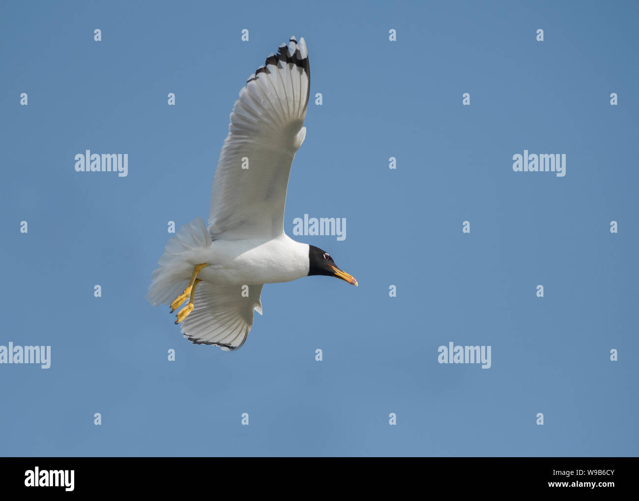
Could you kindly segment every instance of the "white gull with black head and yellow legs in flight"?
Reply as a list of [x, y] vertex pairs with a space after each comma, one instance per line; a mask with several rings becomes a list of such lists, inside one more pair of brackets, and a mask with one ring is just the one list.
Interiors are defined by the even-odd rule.
[[196, 218], [169, 240], [146, 296], [170, 305], [194, 344], [241, 347], [262, 314], [265, 283], [312, 275], [357, 280], [316, 246], [284, 233], [293, 157], [306, 137], [310, 70], [304, 38], [266, 58], [240, 91], [213, 176], [208, 225]]

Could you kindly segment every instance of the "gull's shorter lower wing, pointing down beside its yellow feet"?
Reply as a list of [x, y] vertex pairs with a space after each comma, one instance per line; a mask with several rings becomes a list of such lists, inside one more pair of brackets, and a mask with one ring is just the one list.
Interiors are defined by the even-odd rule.
[[225, 351], [238, 349], [253, 325], [253, 311], [262, 314], [262, 287], [199, 283], [195, 308], [181, 323], [181, 333], [194, 344], [212, 344]]

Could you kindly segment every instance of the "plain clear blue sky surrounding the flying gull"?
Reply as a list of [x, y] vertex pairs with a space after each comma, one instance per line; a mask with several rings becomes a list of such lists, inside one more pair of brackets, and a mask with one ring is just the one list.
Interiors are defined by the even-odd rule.
[[[0, 364], [0, 455], [636, 456], [638, 18], [635, 2], [2, 3], [0, 345], [51, 346], [51, 366]], [[295, 238], [359, 287], [265, 285], [242, 349], [194, 346], [146, 302], [151, 272], [167, 221], [207, 219], [233, 102], [291, 35], [323, 104], [285, 229], [346, 218], [343, 241]], [[77, 173], [85, 150], [128, 154], [127, 177]], [[514, 172], [523, 150], [566, 154], [566, 176]], [[490, 346], [490, 369], [438, 363], [449, 342]]]

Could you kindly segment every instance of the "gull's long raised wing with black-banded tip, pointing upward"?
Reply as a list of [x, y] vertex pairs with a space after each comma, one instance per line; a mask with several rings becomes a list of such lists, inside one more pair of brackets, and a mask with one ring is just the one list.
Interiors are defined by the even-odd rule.
[[284, 232], [288, 177], [306, 135], [309, 78], [304, 38], [291, 37], [240, 91], [213, 178], [208, 224], [214, 237]]

